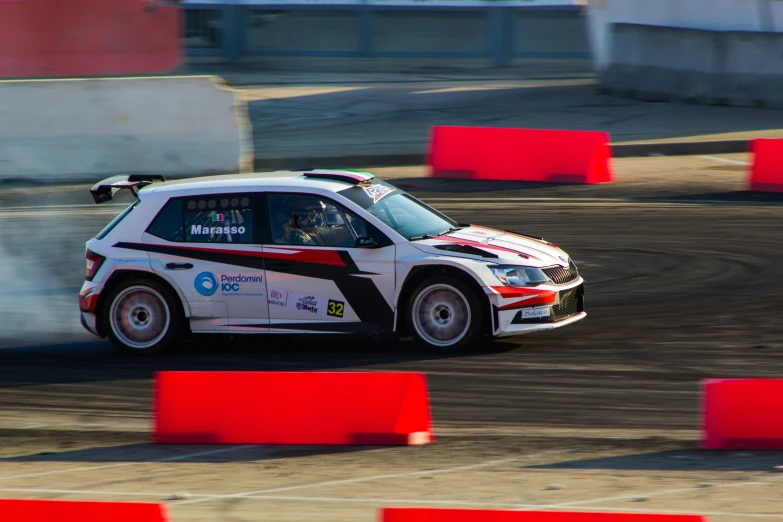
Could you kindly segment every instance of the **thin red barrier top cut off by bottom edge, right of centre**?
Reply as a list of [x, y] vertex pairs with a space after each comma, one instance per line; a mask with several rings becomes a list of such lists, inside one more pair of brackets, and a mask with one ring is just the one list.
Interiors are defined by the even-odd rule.
[[707, 518], [702, 515], [594, 511], [383, 508], [379, 522], [707, 522]]

